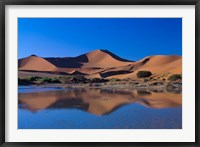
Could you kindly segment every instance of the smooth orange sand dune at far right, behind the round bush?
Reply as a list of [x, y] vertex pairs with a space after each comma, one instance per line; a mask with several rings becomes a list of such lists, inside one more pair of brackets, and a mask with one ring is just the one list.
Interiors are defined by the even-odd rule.
[[182, 57], [180, 56], [150, 56], [133, 65], [131, 73], [113, 75], [109, 78], [137, 78], [137, 72], [141, 70], [151, 71], [153, 76], [168, 77], [171, 74], [182, 73]]

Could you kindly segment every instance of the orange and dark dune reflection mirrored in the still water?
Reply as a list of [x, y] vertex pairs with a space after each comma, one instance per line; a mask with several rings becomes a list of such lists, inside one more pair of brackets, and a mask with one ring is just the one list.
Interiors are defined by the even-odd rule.
[[32, 112], [43, 109], [78, 108], [95, 115], [105, 115], [131, 103], [139, 103], [150, 108], [177, 107], [182, 104], [182, 96], [173, 93], [108, 89], [19, 93], [20, 108]]

